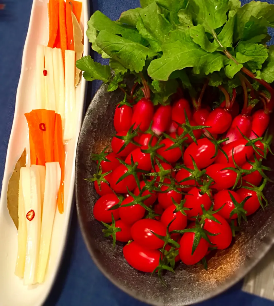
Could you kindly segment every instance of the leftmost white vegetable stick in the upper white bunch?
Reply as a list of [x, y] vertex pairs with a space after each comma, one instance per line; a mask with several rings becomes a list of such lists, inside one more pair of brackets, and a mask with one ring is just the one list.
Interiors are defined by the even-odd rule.
[[36, 106], [34, 109], [45, 108], [45, 76], [44, 76], [45, 46], [36, 48]]

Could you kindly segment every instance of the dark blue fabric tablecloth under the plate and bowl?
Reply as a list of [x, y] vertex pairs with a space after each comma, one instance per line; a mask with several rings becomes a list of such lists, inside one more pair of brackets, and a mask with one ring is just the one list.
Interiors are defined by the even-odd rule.
[[[23, 46], [27, 34], [32, 0], [2, 0], [0, 11], [0, 182], [13, 121], [16, 88], [20, 76]], [[246, 3], [249, 1], [242, 1]], [[274, 0], [268, 1], [274, 3]], [[100, 10], [111, 19], [121, 12], [139, 6], [139, 0], [92, 0], [91, 12]], [[272, 31], [273, 33], [273, 31]], [[94, 55], [97, 61], [102, 59]], [[104, 62], [106, 63], [106, 62]], [[89, 84], [87, 104], [99, 87]], [[1, 273], [1, 271], [0, 271]], [[199, 306], [274, 306], [273, 302], [243, 293], [241, 283]], [[1, 297], [0, 297], [1, 299]], [[85, 247], [74, 210], [68, 245], [55, 286], [44, 306], [145, 306], [110, 283], [92, 262]], [[20, 305], [18, 305], [20, 306]]]

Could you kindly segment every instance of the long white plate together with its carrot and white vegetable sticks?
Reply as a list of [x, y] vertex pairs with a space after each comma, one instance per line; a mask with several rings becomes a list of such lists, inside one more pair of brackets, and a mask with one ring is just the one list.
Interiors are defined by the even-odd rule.
[[0, 200], [0, 305], [42, 305], [73, 208], [88, 54], [86, 1], [34, 0]]

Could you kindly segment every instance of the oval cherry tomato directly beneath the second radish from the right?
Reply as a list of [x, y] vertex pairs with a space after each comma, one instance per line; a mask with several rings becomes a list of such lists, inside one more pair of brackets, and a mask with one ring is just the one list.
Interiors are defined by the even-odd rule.
[[[229, 163], [233, 164], [233, 159], [232, 159], [233, 148], [234, 148], [233, 150], [234, 160], [238, 166], [242, 166], [246, 162], [246, 159], [251, 158], [254, 150], [251, 146], [245, 147], [247, 142], [248, 141], [246, 139], [241, 138], [232, 141], [229, 144], [226, 144], [222, 147], [222, 149], [225, 151], [225, 153], [228, 156]], [[227, 163], [227, 159], [225, 158], [225, 155], [221, 151], [218, 152], [215, 162], [220, 164]]]

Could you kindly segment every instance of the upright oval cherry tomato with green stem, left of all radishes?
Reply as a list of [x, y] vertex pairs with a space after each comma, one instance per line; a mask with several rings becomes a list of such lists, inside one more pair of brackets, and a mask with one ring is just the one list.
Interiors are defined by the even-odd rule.
[[127, 131], [132, 126], [132, 107], [118, 104], [114, 113], [114, 128], [116, 132]]

